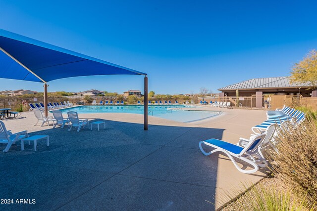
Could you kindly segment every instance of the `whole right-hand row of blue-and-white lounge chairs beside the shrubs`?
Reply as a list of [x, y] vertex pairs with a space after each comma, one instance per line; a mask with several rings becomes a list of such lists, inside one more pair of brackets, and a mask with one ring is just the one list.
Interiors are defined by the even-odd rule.
[[[259, 168], [268, 165], [267, 159], [263, 155], [263, 150], [267, 147], [272, 148], [278, 153], [276, 136], [279, 132], [286, 132], [291, 127], [299, 127], [301, 122], [305, 120], [305, 114], [299, 110], [284, 105], [282, 109], [275, 111], [267, 111], [267, 120], [252, 127], [253, 134], [249, 139], [240, 138], [237, 144], [231, 144], [218, 139], [208, 139], [199, 142], [199, 148], [206, 156], [214, 152], [223, 152], [226, 154], [233, 165], [243, 173], [254, 173]], [[202, 145], [208, 145], [214, 150], [206, 152]], [[238, 166], [236, 160], [244, 161], [250, 164], [253, 169], [246, 170]]]

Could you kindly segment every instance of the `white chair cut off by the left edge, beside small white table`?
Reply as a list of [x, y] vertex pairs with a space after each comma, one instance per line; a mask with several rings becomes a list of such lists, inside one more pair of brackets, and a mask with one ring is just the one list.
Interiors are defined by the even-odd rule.
[[29, 137], [27, 130], [12, 133], [10, 130], [6, 130], [4, 123], [0, 121], [0, 144], [6, 144], [3, 152], [9, 151], [12, 144], [15, 144], [15, 142], [27, 137]]

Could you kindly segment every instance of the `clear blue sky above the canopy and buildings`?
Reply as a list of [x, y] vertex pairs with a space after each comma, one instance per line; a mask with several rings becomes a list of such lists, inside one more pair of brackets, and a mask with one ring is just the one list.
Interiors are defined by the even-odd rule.
[[[0, 28], [149, 75], [156, 93], [213, 92], [287, 76], [317, 48], [317, 1], [0, 0]], [[143, 92], [141, 76], [50, 82], [49, 91]], [[0, 90], [43, 84], [0, 79]]]

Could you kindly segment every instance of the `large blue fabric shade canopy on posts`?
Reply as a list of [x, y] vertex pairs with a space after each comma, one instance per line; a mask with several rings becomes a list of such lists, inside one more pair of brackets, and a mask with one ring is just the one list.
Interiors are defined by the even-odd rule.
[[0, 78], [50, 82], [96, 75], [147, 74], [0, 29]]

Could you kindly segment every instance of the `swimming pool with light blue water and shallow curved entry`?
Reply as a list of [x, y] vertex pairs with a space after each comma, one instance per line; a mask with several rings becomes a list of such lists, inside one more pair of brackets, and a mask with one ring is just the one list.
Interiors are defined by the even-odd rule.
[[[183, 123], [211, 118], [219, 114], [215, 111], [189, 111], [187, 105], [149, 105], [149, 116], [174, 120]], [[131, 113], [144, 114], [143, 105], [90, 105], [59, 109], [62, 113], [76, 111], [79, 114], [89, 113]]]

